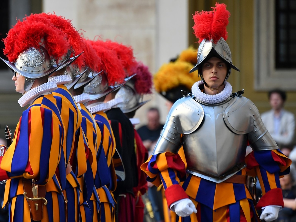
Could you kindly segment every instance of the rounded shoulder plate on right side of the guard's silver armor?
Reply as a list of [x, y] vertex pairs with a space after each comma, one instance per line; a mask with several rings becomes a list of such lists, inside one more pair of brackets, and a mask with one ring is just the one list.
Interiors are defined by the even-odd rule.
[[257, 107], [249, 99], [235, 96], [224, 110], [223, 118], [231, 131], [242, 135], [253, 130], [254, 116], [258, 114]]

